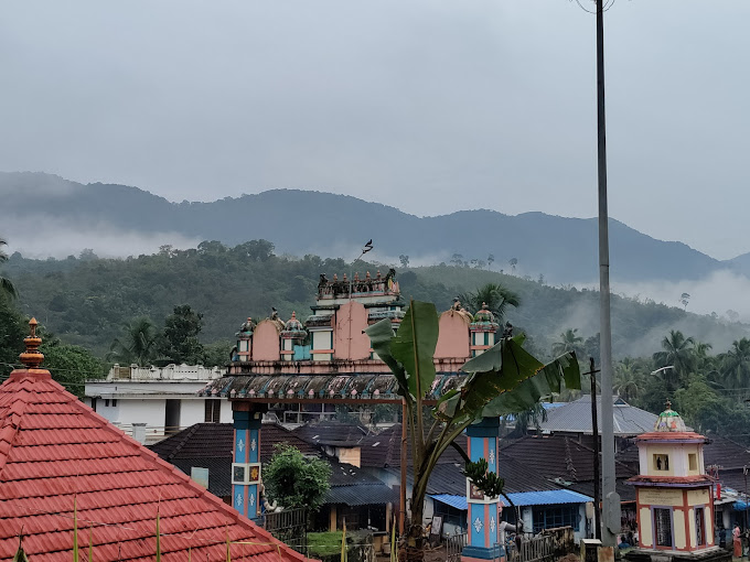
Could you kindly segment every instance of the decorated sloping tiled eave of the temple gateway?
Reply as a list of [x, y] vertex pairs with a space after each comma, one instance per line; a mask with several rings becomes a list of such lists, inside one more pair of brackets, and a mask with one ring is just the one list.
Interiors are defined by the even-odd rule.
[[[427, 400], [438, 400], [457, 388], [464, 375], [443, 374], [436, 377]], [[210, 382], [199, 396], [214, 396], [265, 403], [277, 402], [400, 402], [398, 383], [393, 375], [270, 375], [229, 376]]]

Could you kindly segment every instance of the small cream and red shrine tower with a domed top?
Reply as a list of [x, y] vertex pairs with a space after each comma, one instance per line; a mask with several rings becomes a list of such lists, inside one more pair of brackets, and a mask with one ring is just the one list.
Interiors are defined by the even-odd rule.
[[724, 560], [715, 544], [714, 480], [704, 468], [706, 437], [688, 431], [669, 401], [654, 431], [636, 439], [640, 547], [631, 560]]

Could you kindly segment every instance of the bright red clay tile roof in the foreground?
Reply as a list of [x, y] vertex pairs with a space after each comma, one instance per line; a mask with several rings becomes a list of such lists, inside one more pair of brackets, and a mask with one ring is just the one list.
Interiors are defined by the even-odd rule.
[[0, 560], [10, 560], [23, 530], [35, 562], [68, 561], [73, 501], [79, 544], [94, 559], [154, 560], [161, 517], [164, 562], [232, 560], [301, 562], [172, 465], [126, 436], [52, 380], [46, 370], [15, 370], [0, 386]]

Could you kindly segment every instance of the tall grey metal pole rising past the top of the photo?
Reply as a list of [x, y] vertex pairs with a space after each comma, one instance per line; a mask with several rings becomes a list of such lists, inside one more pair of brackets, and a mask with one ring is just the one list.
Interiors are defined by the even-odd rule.
[[604, 120], [604, 0], [597, 1], [597, 161], [599, 172], [599, 293], [601, 338], [602, 543], [617, 547], [620, 496], [614, 476], [614, 412], [612, 407], [612, 326], [609, 282], [609, 215], [607, 209], [607, 128]]

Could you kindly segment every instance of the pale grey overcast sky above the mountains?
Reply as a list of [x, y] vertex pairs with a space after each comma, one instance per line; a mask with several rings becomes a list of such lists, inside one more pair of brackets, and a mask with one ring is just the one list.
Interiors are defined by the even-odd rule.
[[[611, 215], [717, 258], [750, 251], [749, 17], [606, 18]], [[3, 2], [0, 170], [591, 217], [594, 46], [569, 0]]]

